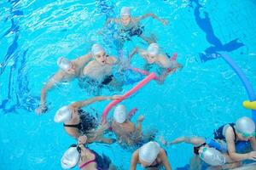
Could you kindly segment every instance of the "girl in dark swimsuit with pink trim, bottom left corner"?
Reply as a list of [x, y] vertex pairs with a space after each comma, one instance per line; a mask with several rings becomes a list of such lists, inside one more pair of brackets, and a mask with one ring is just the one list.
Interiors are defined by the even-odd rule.
[[81, 170], [114, 170], [116, 169], [108, 156], [100, 156], [96, 151], [84, 147], [86, 136], [83, 142], [72, 144], [61, 158], [61, 167], [70, 169], [79, 166]]

